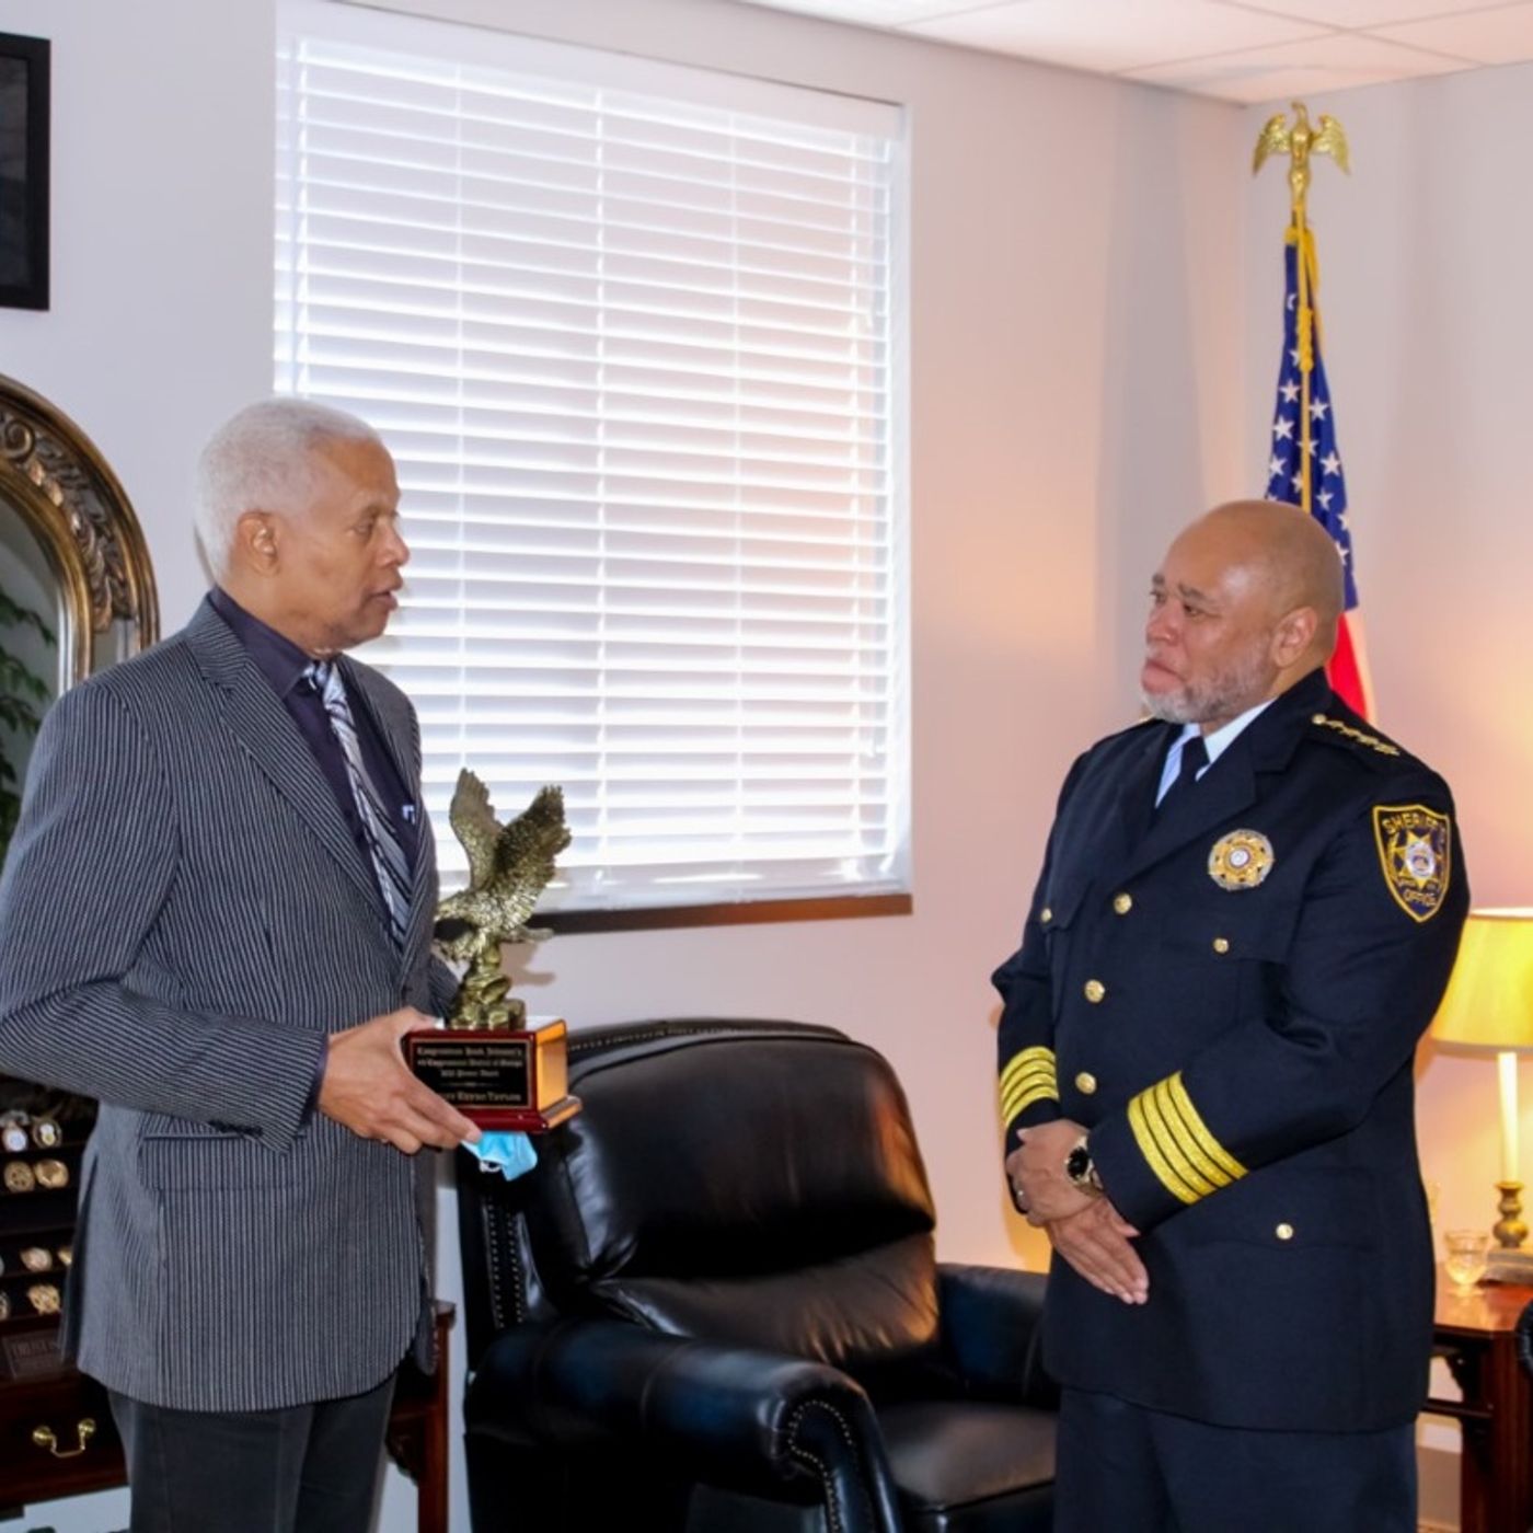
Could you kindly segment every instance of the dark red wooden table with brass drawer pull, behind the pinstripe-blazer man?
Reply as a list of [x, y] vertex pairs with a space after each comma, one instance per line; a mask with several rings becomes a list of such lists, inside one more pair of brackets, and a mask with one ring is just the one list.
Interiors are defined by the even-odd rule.
[[[437, 1303], [437, 1371], [400, 1369], [389, 1412], [389, 1458], [417, 1489], [419, 1533], [448, 1533], [448, 1332], [457, 1311]], [[48, 1433], [38, 1439], [40, 1433]], [[106, 1392], [74, 1369], [0, 1384], [0, 1519], [38, 1501], [110, 1490], [126, 1479]]]

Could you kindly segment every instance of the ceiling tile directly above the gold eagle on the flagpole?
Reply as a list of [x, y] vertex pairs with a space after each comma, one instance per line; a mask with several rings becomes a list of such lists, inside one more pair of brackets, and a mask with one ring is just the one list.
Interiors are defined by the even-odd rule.
[[1464, 67], [1467, 66], [1452, 58], [1363, 37], [1360, 32], [1335, 32], [1196, 63], [1136, 69], [1124, 78], [1251, 103], [1374, 86], [1387, 80], [1413, 80]]

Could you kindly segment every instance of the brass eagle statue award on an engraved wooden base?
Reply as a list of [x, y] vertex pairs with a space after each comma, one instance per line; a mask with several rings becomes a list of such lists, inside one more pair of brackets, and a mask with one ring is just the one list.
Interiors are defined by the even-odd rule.
[[435, 943], [443, 958], [468, 969], [445, 1026], [408, 1033], [405, 1059], [480, 1128], [553, 1128], [579, 1111], [567, 1085], [566, 1026], [527, 1018], [526, 1003], [509, 993], [500, 949], [549, 935], [527, 918], [553, 877], [553, 858], [570, 843], [564, 794], [543, 788], [501, 825], [484, 783], [464, 768], [449, 820], [469, 858], [469, 883], [437, 906]]

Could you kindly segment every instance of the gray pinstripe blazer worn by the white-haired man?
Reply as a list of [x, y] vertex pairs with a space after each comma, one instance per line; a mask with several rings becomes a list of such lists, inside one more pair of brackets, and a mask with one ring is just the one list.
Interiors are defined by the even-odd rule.
[[[343, 661], [411, 788], [405, 696]], [[66, 1348], [150, 1404], [254, 1410], [429, 1360], [432, 1157], [305, 1118], [323, 1036], [431, 1012], [422, 826], [409, 931], [297, 725], [204, 604], [66, 693], [0, 881], [0, 1069], [103, 1102]]]

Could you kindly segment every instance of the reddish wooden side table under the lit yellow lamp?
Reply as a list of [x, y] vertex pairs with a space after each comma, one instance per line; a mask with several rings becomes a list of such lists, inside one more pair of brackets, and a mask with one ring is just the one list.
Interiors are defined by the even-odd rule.
[[1462, 1533], [1525, 1533], [1533, 1524], [1533, 1380], [1518, 1361], [1515, 1328], [1533, 1288], [1485, 1283], [1455, 1294], [1438, 1271], [1432, 1349], [1464, 1392], [1427, 1400], [1464, 1433], [1459, 1466]]

